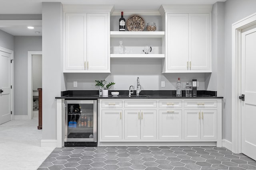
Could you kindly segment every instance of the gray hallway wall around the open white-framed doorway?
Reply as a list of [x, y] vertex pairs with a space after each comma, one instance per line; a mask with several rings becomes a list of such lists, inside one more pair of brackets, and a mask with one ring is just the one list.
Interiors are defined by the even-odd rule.
[[42, 51], [42, 37], [14, 36], [14, 115], [28, 115], [28, 51]]

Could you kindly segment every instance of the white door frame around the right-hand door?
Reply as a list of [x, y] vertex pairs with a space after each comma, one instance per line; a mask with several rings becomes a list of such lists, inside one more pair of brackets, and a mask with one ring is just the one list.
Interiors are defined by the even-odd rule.
[[256, 24], [256, 13], [232, 24], [232, 152], [242, 152], [242, 29]]

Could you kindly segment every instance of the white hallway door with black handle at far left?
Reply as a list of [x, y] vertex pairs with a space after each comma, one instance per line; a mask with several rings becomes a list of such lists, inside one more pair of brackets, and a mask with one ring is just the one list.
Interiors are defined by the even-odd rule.
[[0, 124], [11, 120], [11, 56], [0, 51]]

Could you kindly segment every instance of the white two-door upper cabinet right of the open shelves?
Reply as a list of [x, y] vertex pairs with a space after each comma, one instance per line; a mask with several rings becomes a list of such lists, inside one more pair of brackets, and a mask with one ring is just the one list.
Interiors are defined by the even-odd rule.
[[160, 8], [166, 29], [162, 72], [212, 72], [211, 6], [174, 8]]

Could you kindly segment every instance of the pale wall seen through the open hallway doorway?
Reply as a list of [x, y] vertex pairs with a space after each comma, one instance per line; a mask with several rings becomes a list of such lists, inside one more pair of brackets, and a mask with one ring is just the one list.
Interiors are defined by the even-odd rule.
[[33, 90], [42, 88], [42, 55], [32, 55]]

